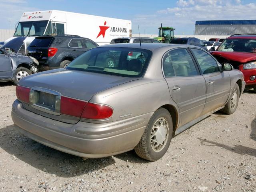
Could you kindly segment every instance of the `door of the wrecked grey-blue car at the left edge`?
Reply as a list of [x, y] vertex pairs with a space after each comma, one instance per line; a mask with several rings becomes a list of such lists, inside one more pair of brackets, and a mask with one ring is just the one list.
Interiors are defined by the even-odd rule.
[[0, 79], [12, 78], [11, 58], [0, 50]]

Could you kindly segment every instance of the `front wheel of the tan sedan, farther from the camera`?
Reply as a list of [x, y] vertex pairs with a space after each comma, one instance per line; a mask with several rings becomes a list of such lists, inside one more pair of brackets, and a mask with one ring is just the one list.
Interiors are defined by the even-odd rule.
[[236, 111], [236, 108], [238, 106], [240, 96], [240, 90], [238, 84], [235, 84], [230, 99], [228, 100], [227, 104], [224, 108], [222, 108], [220, 111], [226, 114], [232, 114]]

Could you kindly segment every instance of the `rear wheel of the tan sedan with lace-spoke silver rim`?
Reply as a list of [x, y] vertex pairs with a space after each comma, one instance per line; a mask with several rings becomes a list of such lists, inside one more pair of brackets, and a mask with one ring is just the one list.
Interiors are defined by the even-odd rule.
[[172, 117], [168, 110], [160, 108], [154, 112], [142, 138], [134, 148], [136, 154], [149, 161], [160, 159], [170, 146], [172, 139]]

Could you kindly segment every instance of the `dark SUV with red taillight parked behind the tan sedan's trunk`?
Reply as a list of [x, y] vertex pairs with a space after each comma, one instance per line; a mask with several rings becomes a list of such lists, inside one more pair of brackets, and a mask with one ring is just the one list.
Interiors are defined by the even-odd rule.
[[97, 46], [92, 40], [76, 35], [39, 36], [28, 46], [28, 56], [36, 58], [38, 70], [44, 71], [66, 67], [72, 60]]

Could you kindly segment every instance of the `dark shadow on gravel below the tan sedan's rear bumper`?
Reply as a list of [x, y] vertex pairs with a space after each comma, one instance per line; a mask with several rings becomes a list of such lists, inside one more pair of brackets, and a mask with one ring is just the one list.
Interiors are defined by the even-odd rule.
[[[80, 157], [44, 146], [20, 134], [14, 125], [0, 129], [0, 147], [34, 168], [39, 170], [46, 168], [46, 172], [64, 178], [93, 172], [115, 163], [113, 157], [84, 161]], [[117, 158], [130, 161], [133, 155], [121, 154]]]

